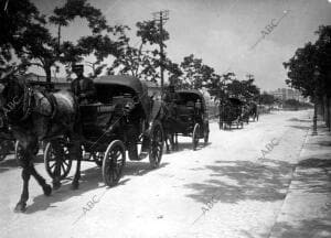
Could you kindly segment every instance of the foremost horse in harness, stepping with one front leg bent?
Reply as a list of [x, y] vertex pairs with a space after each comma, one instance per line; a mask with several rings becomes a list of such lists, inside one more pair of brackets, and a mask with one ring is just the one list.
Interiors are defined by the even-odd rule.
[[[26, 209], [29, 198], [29, 180], [31, 175], [41, 185], [44, 195], [50, 196], [52, 186], [36, 172], [33, 165], [38, 143], [57, 137], [70, 138], [71, 159], [77, 159], [77, 169], [72, 183], [78, 188], [81, 177], [81, 142], [78, 120], [78, 105], [74, 95], [63, 90], [54, 94], [44, 94], [32, 89], [23, 78], [14, 76], [14, 71], [0, 78], [0, 104], [8, 120], [10, 131], [22, 148], [20, 165], [22, 166], [23, 192], [15, 212]], [[60, 177], [53, 180], [53, 188], [61, 185]]]

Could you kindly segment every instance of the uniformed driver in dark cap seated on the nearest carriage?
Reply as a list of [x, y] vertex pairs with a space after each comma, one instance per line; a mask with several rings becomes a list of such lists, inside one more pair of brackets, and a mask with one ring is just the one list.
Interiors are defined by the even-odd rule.
[[76, 95], [81, 105], [92, 104], [95, 100], [96, 89], [90, 78], [84, 77], [84, 66], [73, 65], [77, 75], [71, 84], [71, 90]]

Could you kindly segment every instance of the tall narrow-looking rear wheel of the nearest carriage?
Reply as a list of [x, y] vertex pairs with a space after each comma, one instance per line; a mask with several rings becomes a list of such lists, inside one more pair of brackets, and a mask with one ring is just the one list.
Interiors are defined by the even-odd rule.
[[150, 133], [149, 162], [152, 169], [160, 165], [163, 153], [163, 129], [160, 121], [156, 120]]

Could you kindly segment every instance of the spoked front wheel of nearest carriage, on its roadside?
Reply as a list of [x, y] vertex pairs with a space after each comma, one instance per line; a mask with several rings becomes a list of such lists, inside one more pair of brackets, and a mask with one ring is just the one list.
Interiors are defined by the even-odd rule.
[[125, 145], [120, 140], [115, 140], [108, 145], [103, 161], [103, 177], [107, 186], [111, 187], [118, 183], [125, 163]]

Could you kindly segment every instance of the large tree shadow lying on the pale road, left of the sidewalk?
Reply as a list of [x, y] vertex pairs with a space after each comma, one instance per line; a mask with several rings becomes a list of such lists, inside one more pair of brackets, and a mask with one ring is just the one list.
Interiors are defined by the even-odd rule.
[[284, 199], [290, 183], [292, 165], [274, 160], [266, 162], [261, 164], [250, 161], [216, 161], [220, 165], [205, 166], [215, 178], [186, 184], [185, 187], [193, 191], [188, 196], [203, 204], [212, 197], [222, 203]]

